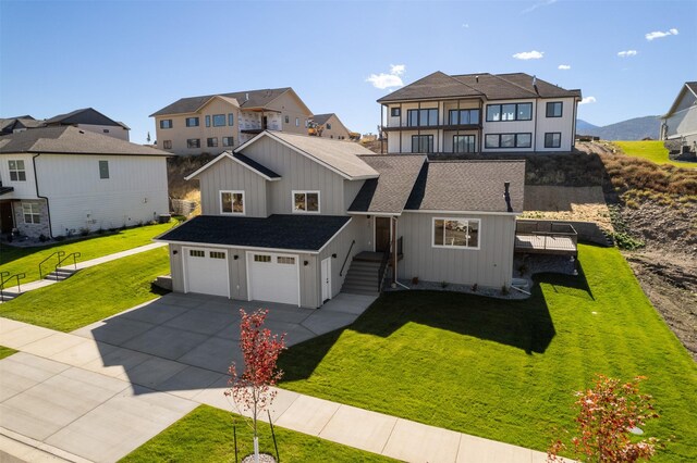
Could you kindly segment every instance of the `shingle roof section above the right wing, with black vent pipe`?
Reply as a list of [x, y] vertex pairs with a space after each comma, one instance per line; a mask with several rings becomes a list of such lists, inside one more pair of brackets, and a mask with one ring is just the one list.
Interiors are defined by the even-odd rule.
[[505, 182], [513, 212], [523, 212], [525, 161], [428, 162], [404, 209], [508, 212]]

